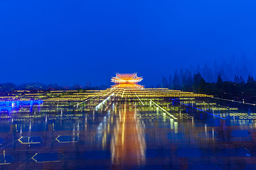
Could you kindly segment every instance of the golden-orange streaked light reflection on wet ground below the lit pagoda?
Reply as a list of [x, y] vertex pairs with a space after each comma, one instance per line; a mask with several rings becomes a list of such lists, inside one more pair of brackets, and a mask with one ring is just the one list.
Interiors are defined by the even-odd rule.
[[119, 109], [119, 119], [111, 139], [112, 164], [144, 164], [146, 143], [136, 109], [125, 109], [125, 104], [119, 107], [123, 109]]

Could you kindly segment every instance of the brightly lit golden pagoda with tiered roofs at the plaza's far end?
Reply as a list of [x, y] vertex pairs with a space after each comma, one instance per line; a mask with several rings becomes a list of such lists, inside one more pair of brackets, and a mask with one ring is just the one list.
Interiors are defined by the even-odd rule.
[[111, 88], [137, 88], [143, 89], [143, 85], [138, 85], [143, 78], [138, 77], [137, 73], [133, 74], [119, 74], [116, 73], [116, 77], [112, 77], [111, 82], [114, 82], [115, 85], [112, 85]]

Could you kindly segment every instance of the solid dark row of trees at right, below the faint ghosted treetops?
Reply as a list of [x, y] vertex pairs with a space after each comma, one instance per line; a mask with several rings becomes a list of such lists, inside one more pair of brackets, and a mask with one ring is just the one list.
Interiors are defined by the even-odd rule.
[[206, 82], [199, 72], [191, 74], [186, 72], [183, 75], [174, 74], [169, 80], [163, 76], [162, 88], [189, 91], [194, 93], [204, 93], [223, 97], [225, 94], [250, 94], [256, 95], [256, 80], [253, 76], [248, 76], [245, 82], [242, 76], [235, 75], [234, 81], [223, 81], [221, 74], [218, 74], [216, 82]]

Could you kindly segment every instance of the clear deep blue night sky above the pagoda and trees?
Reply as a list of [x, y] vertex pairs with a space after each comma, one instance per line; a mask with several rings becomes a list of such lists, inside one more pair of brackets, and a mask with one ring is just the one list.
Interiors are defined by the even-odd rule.
[[255, 0], [0, 0], [0, 83], [110, 85], [138, 72], [160, 83], [175, 68], [256, 63]]

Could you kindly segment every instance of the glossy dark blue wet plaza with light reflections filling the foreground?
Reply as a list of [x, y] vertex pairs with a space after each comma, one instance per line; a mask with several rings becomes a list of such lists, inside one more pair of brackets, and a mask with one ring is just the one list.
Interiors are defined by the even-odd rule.
[[96, 111], [76, 103], [0, 103], [0, 169], [256, 169], [255, 106], [112, 99]]

